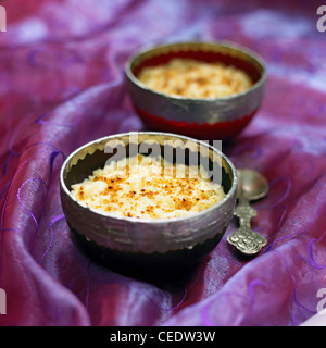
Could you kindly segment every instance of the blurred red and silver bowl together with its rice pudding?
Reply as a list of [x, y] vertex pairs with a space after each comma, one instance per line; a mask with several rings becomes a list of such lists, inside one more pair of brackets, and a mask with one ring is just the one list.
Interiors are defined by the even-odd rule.
[[125, 66], [135, 110], [150, 130], [231, 139], [259, 110], [266, 67], [234, 42], [179, 42], [142, 48]]

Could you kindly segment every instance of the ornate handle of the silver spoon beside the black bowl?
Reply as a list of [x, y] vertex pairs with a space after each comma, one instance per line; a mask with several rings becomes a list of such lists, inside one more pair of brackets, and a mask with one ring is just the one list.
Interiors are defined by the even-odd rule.
[[256, 210], [249, 206], [249, 201], [240, 199], [235, 210], [239, 217], [240, 228], [227, 236], [227, 241], [246, 254], [258, 253], [266, 244], [267, 239], [251, 229], [251, 217], [256, 215]]

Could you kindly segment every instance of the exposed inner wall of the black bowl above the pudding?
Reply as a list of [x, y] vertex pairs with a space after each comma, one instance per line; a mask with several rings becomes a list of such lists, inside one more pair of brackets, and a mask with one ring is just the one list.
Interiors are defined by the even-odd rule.
[[[135, 141], [136, 138], [137, 141]], [[171, 163], [186, 165], [200, 163], [211, 175], [212, 181], [223, 185], [225, 194], [228, 194], [233, 187], [234, 170], [230, 162], [213, 151], [210, 145], [201, 148], [202, 142], [196, 140], [189, 142], [187, 138], [180, 141], [180, 137], [176, 135], [162, 136], [159, 133], [127, 134], [118, 137], [118, 142], [114, 139], [113, 137], [112, 144], [110, 138], [92, 141], [71, 156], [63, 171], [63, 183], [67, 190], [71, 190], [72, 185], [91, 175], [95, 170], [103, 167], [105, 163], [133, 157], [136, 153], [150, 157], [160, 154]], [[155, 142], [151, 142], [151, 139], [155, 139]]]

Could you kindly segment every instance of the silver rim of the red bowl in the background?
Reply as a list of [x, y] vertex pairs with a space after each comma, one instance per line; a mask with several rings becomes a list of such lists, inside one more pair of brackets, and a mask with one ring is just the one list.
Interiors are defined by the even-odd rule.
[[[158, 90], [148, 88], [145, 84], [142, 84], [133, 73], [131, 71], [131, 66], [135, 62], [136, 59], [140, 58], [142, 54], [146, 54], [150, 51], [154, 51], [155, 49], [160, 49], [160, 48], [172, 48], [175, 46], [196, 46], [196, 45], [206, 45], [206, 46], [211, 46], [211, 47], [222, 47], [222, 48], [229, 48], [233, 49], [235, 51], [239, 51], [241, 53], [244, 53], [246, 55], [250, 57], [251, 59], [253, 59], [262, 69], [262, 74], [261, 77], [259, 78], [258, 82], [255, 82], [250, 88], [248, 88], [247, 90], [243, 90], [241, 92], [238, 94], [234, 94], [230, 96], [226, 96], [226, 97], [210, 97], [210, 98], [190, 98], [190, 97], [183, 97], [183, 96], [176, 96], [176, 95], [168, 95], [168, 94], [163, 94], [160, 92]], [[171, 100], [184, 100], [184, 101], [188, 101], [188, 102], [215, 102], [215, 101], [233, 101], [236, 100], [238, 98], [241, 98], [243, 96], [247, 96], [249, 94], [251, 94], [252, 91], [261, 88], [267, 78], [267, 67], [266, 64], [263, 60], [263, 58], [258, 54], [256, 52], [254, 52], [253, 50], [241, 46], [239, 44], [233, 42], [233, 41], [228, 41], [228, 40], [222, 40], [222, 41], [178, 41], [178, 42], [172, 42], [172, 44], [162, 44], [162, 45], [148, 45], [148, 46], [143, 46], [140, 47], [138, 50], [136, 50], [136, 52], [134, 54], [131, 54], [128, 60], [125, 63], [125, 74], [128, 77], [128, 79], [135, 84], [137, 87], [139, 87], [140, 89], [161, 96], [161, 97], [165, 97], [167, 99]]]

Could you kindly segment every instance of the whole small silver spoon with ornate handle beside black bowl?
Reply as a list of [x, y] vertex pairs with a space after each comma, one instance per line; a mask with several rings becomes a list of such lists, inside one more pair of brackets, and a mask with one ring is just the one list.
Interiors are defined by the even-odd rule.
[[268, 182], [260, 173], [242, 169], [238, 170], [238, 206], [235, 215], [239, 217], [240, 228], [227, 236], [227, 241], [244, 254], [254, 254], [267, 244], [267, 239], [251, 229], [251, 217], [256, 215], [256, 210], [250, 207], [250, 200], [265, 197], [268, 192]]

